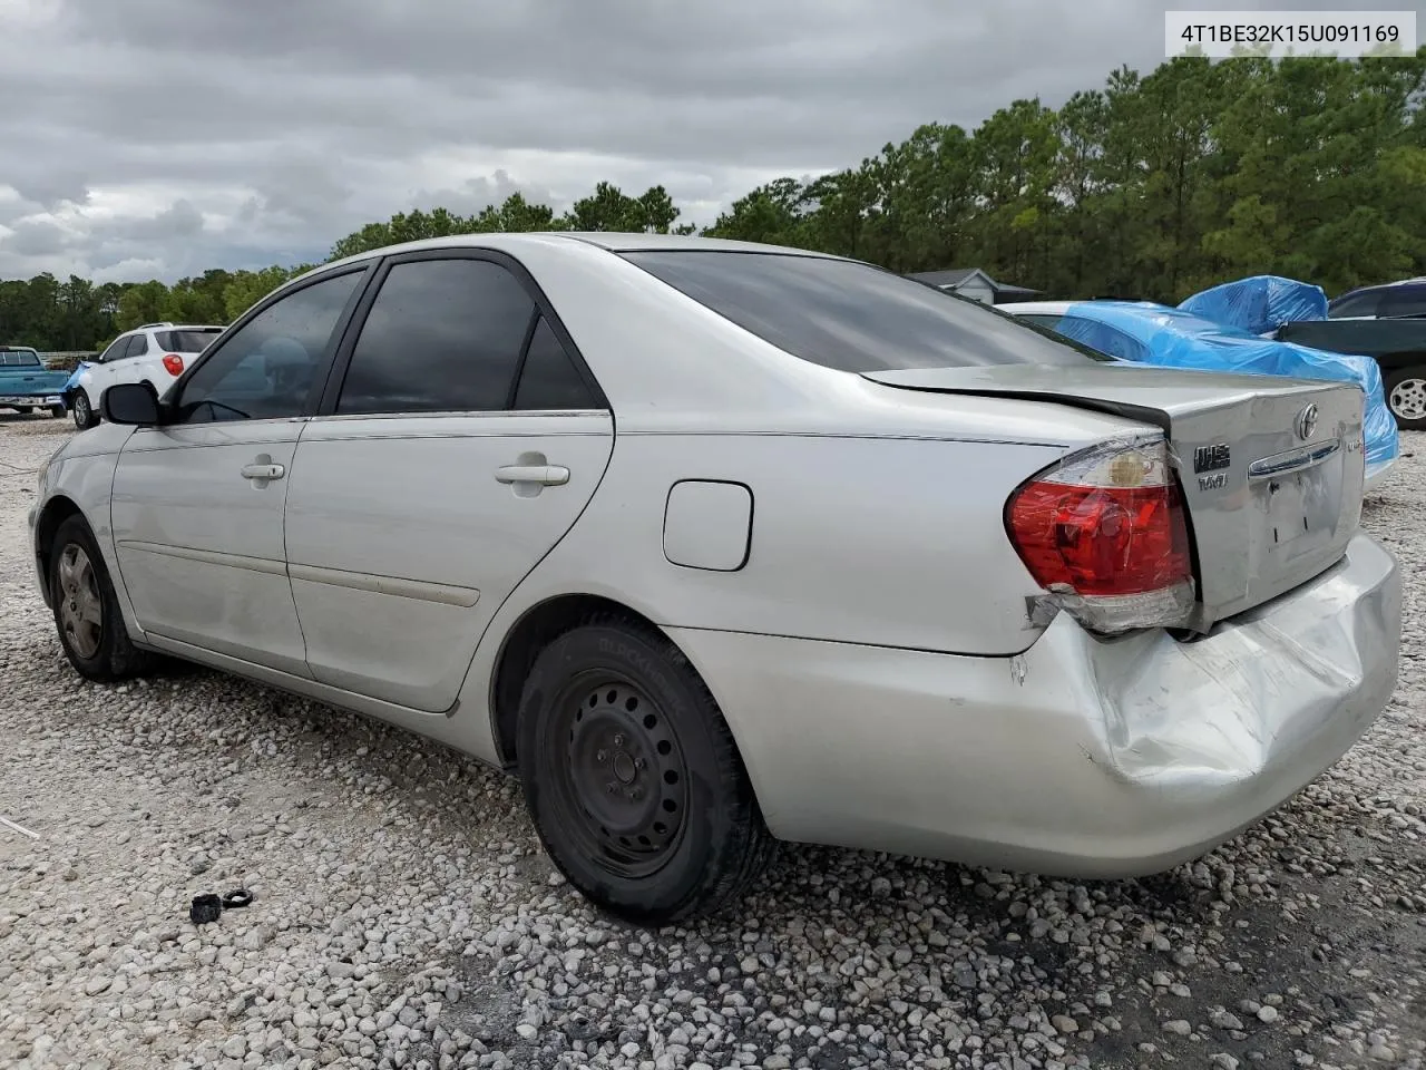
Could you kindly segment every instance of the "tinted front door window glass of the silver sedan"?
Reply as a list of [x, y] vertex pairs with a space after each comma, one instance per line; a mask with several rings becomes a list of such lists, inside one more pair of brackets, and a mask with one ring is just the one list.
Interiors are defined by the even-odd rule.
[[362, 271], [324, 278], [278, 298], [194, 368], [178, 398], [177, 418], [298, 417], [307, 407], [327, 344]]

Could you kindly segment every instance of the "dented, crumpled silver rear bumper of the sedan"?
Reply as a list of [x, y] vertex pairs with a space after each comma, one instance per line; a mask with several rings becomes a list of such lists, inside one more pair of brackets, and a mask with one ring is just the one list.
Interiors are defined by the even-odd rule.
[[1333, 765], [1396, 685], [1400, 578], [1358, 536], [1194, 642], [1061, 613], [1015, 658], [670, 629], [783, 839], [1061, 876], [1196, 857]]

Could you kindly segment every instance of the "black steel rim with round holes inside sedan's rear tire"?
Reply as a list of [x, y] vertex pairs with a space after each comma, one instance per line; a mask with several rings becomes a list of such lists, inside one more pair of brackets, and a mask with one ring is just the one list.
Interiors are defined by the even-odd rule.
[[656, 873], [677, 847], [689, 807], [673, 723], [643, 691], [607, 672], [576, 676], [552, 705], [560, 823], [605, 869], [629, 879]]

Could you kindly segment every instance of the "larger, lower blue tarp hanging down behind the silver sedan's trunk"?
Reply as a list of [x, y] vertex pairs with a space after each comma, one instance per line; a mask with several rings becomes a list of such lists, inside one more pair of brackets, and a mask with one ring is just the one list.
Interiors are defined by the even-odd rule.
[[1366, 394], [1368, 471], [1395, 461], [1400, 449], [1396, 419], [1386, 407], [1382, 370], [1370, 357], [1259, 338], [1181, 308], [1147, 301], [1081, 301], [1070, 305], [1054, 330], [1092, 350], [1138, 364], [1355, 382]]

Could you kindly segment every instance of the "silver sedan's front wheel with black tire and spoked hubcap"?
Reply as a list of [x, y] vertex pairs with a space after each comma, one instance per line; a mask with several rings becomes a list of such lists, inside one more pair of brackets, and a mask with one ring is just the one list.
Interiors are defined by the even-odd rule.
[[[70, 516], [54, 532], [48, 572], [60, 646], [80, 676], [97, 683], [114, 683], [153, 666], [151, 655], [128, 639], [104, 555], [83, 516]], [[84, 612], [86, 605], [97, 606], [97, 623], [90, 619], [91, 613]]]

